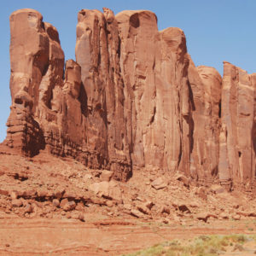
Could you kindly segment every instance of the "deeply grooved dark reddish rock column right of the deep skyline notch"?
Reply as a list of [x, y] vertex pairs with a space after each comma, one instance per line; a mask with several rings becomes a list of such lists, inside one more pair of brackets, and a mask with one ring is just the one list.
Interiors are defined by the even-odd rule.
[[98, 10], [83, 9], [78, 19], [76, 59], [86, 96], [86, 147], [98, 155], [99, 166], [110, 168], [114, 178], [126, 180], [131, 175], [131, 160], [117, 21], [110, 9], [104, 9], [104, 15]]

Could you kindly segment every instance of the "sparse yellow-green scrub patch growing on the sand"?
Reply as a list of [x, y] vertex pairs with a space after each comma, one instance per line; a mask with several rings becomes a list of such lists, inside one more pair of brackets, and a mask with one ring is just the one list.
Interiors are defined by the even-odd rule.
[[199, 236], [189, 241], [166, 241], [126, 256], [217, 256], [227, 250], [243, 250], [246, 241], [256, 241], [256, 236]]

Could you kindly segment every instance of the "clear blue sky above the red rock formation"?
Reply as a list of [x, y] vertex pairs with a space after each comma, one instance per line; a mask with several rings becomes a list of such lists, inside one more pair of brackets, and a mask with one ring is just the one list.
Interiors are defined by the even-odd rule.
[[0, 142], [6, 136], [9, 116], [9, 15], [16, 9], [37, 9], [44, 21], [60, 34], [65, 58], [74, 59], [77, 14], [80, 9], [108, 7], [115, 14], [124, 9], [149, 9], [162, 30], [183, 29], [189, 54], [196, 66], [223, 73], [223, 61], [256, 73], [256, 0], [9, 0], [0, 8]]

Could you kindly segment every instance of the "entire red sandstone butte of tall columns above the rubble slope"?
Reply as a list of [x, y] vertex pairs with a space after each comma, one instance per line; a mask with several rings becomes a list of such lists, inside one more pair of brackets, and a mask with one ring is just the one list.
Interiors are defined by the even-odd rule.
[[76, 61], [38, 11], [10, 15], [12, 105], [3, 142], [107, 169], [182, 172], [199, 183], [253, 183], [256, 73], [195, 67], [176, 27], [148, 10], [78, 15]]

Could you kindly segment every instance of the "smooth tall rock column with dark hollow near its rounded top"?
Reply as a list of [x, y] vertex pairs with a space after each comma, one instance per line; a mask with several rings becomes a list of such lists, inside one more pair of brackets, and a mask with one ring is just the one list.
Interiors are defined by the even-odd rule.
[[[152, 131], [155, 107], [155, 70], [158, 49], [156, 16], [150, 11], [123, 11], [119, 23], [120, 66], [125, 82], [125, 121], [134, 166], [145, 166], [156, 156], [162, 136], [148, 137]], [[163, 149], [163, 148], [161, 148]]]

